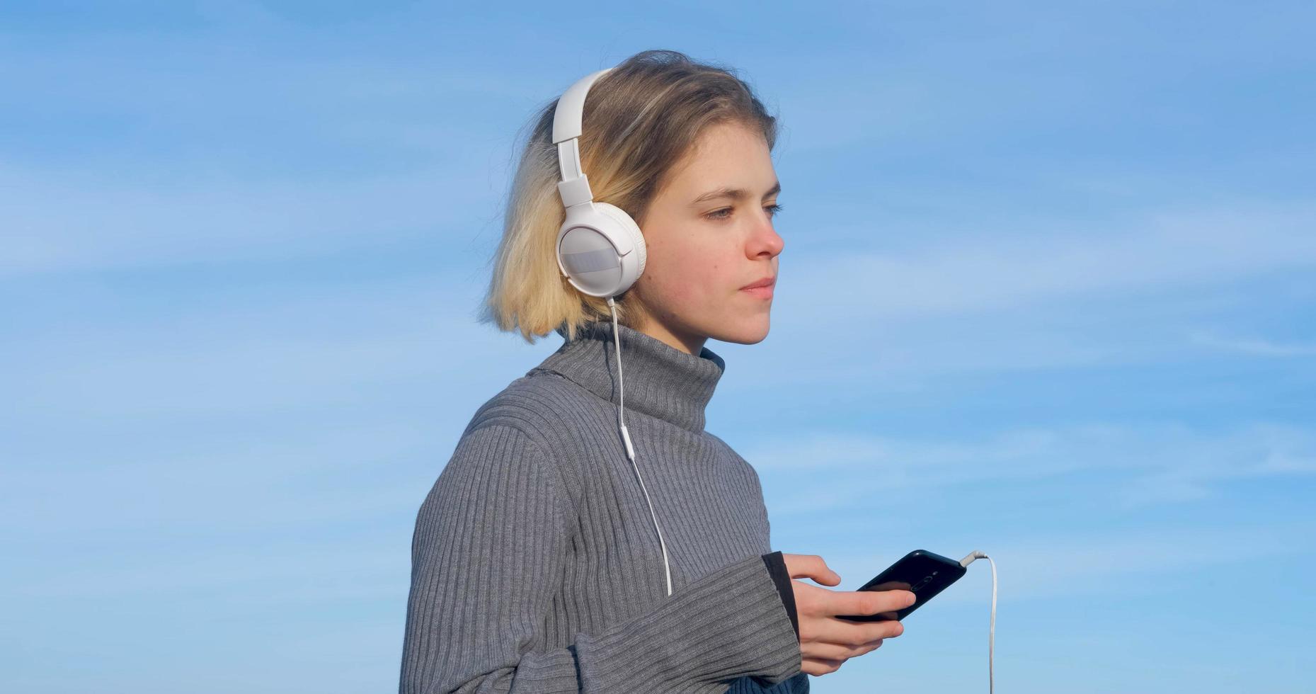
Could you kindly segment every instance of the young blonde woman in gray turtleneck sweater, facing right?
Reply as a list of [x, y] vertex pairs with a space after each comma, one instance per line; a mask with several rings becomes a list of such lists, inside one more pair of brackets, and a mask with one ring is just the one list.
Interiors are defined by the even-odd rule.
[[[807, 674], [903, 631], [836, 615], [913, 594], [792, 581], [840, 577], [770, 552], [757, 473], [704, 429], [725, 367], [704, 342], [767, 336], [775, 119], [732, 72], [675, 51], [583, 90], [578, 150], [553, 137], [559, 100], [538, 115], [484, 307], [526, 341], [565, 341], [480, 406], [420, 508], [400, 690], [808, 691]], [[559, 187], [576, 165], [587, 186]], [[634, 220], [619, 233], [636, 238], [604, 248], [638, 254], [620, 294], [588, 292], [582, 273], [612, 275], [559, 255], [569, 203]]]

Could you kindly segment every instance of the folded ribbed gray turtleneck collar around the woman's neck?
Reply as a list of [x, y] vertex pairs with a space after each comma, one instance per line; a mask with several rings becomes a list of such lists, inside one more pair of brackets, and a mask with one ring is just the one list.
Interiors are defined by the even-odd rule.
[[[707, 346], [695, 356], [634, 328], [620, 325], [620, 329], [626, 412], [644, 412], [686, 429], [703, 431], [704, 407], [713, 398], [726, 362]], [[526, 375], [553, 371], [617, 404], [621, 392], [616, 387], [616, 361], [612, 321], [592, 321]]]

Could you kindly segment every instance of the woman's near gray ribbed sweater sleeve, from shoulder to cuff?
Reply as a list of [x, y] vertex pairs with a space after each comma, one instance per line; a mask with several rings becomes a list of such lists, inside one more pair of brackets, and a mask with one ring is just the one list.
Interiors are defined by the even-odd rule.
[[799, 674], [799, 640], [761, 556], [653, 610], [546, 649], [574, 518], [551, 461], [519, 428], [467, 432], [417, 515], [401, 694], [725, 691]]

